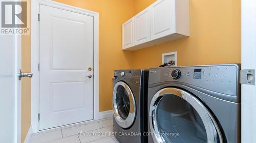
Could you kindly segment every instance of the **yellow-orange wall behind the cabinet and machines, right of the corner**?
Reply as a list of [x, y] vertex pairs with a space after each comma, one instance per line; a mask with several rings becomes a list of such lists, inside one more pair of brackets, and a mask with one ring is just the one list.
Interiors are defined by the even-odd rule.
[[[135, 0], [135, 13], [155, 0]], [[177, 51], [178, 66], [241, 63], [241, 1], [190, 0], [190, 37], [138, 50], [133, 68], [157, 67]]]

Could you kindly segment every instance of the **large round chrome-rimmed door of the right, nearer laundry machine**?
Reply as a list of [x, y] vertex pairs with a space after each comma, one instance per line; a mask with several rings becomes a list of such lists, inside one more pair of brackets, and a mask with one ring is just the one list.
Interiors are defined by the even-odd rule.
[[154, 142], [223, 143], [217, 122], [193, 95], [165, 88], [152, 98], [149, 113]]

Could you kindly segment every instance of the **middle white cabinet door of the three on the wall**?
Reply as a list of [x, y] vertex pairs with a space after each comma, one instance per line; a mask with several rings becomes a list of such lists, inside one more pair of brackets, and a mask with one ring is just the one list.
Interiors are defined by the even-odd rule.
[[150, 8], [134, 16], [134, 45], [151, 40], [150, 25]]

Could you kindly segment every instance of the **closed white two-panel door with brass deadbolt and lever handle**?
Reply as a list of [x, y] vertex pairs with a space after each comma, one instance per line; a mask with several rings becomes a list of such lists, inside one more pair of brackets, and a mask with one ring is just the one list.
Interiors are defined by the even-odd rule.
[[39, 130], [92, 120], [93, 17], [45, 5], [39, 12]]

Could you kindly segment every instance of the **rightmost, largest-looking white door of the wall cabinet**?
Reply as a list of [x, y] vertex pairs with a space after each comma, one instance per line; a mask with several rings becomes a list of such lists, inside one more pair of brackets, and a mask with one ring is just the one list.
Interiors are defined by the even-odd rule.
[[175, 0], [159, 0], [151, 5], [151, 40], [175, 33]]

